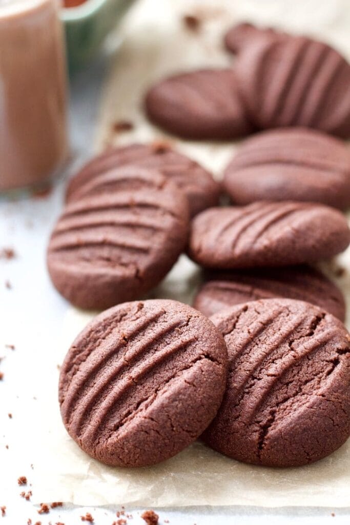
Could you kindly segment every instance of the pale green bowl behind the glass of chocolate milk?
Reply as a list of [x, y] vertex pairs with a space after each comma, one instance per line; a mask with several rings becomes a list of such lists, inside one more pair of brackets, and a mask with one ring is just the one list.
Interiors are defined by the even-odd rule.
[[77, 7], [61, 9], [70, 72], [87, 65], [97, 55], [105, 37], [134, 2], [135, 0], [86, 0]]

